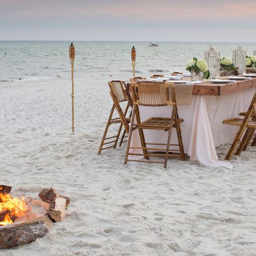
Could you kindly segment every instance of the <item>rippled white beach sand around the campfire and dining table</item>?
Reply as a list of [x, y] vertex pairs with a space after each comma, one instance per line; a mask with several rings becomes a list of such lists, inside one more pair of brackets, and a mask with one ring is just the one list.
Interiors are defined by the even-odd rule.
[[124, 166], [125, 146], [97, 156], [108, 79], [76, 80], [75, 134], [69, 80], [0, 85], [0, 183], [18, 196], [54, 187], [71, 198], [64, 222], [0, 255], [255, 256], [256, 149], [234, 156], [232, 171]]

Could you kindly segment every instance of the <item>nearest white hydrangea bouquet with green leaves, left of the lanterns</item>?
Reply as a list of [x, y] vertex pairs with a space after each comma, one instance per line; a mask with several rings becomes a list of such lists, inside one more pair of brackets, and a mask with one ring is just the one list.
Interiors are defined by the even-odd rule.
[[198, 76], [198, 80], [208, 79], [210, 77], [210, 72], [208, 70], [208, 65], [205, 60], [197, 60], [196, 57], [190, 60], [186, 64], [186, 70], [191, 73], [191, 79], [193, 80], [193, 73]]

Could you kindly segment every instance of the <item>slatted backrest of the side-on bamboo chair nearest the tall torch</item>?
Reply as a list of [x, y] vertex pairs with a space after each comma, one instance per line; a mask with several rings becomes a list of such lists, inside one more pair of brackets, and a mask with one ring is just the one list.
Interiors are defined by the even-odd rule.
[[110, 93], [116, 97], [118, 102], [131, 100], [130, 94], [126, 90], [126, 84], [124, 81], [112, 80], [108, 82]]

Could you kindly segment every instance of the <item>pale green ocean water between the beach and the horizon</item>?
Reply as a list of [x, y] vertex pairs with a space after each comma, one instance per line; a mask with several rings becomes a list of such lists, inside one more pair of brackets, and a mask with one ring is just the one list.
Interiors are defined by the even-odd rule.
[[[0, 83], [70, 77], [68, 41], [0, 41]], [[184, 71], [193, 56], [203, 58], [212, 45], [196, 42], [74, 42], [76, 77], [132, 76], [131, 48], [136, 48], [136, 74]], [[157, 43], [157, 42], [154, 42]], [[232, 57], [239, 43], [214, 43], [221, 56]], [[241, 43], [252, 55], [256, 43]], [[6, 53], [6, 55], [5, 55]]]

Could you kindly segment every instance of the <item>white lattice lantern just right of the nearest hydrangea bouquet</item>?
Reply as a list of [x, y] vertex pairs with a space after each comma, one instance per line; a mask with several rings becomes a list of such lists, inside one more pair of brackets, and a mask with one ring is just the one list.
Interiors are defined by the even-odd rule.
[[210, 72], [210, 78], [220, 77], [220, 52], [216, 52], [213, 45], [210, 50], [204, 52], [204, 60], [208, 64], [208, 70]]

